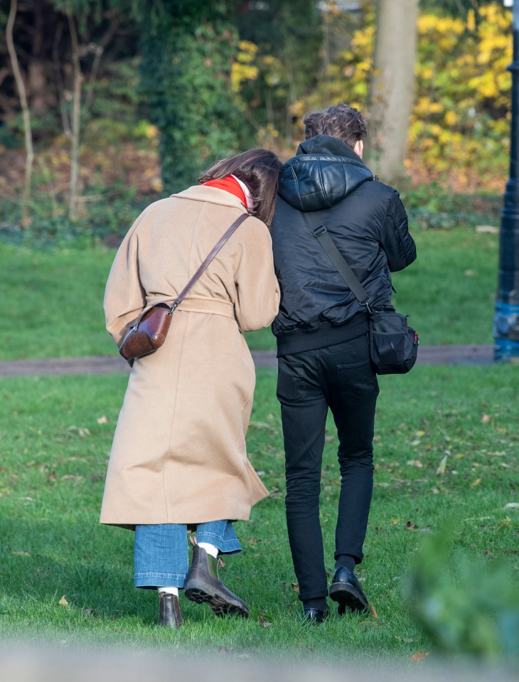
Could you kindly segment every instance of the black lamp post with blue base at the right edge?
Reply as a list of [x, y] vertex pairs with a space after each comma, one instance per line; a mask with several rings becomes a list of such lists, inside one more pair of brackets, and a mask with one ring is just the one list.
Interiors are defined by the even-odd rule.
[[519, 0], [513, 4], [512, 122], [510, 179], [506, 183], [499, 247], [499, 278], [494, 315], [494, 359], [519, 361]]

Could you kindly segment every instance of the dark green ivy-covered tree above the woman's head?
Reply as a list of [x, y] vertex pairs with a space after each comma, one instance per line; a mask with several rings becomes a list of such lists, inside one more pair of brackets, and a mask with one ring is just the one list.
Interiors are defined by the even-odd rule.
[[237, 33], [223, 16], [233, 4], [218, 4], [210, 21], [203, 20], [205, 2], [198, 14], [197, 3], [185, 14], [183, 4], [165, 2], [164, 10], [170, 5], [171, 14], [151, 21], [142, 38], [141, 88], [161, 132], [164, 184], [174, 192], [196, 183], [215, 159], [240, 151], [244, 124], [230, 80]]

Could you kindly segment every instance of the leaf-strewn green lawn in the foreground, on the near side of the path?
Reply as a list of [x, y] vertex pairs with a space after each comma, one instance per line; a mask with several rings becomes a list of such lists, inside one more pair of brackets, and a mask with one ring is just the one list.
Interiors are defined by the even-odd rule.
[[[0, 639], [405, 662], [432, 649], [401, 596], [429, 533], [454, 524], [455, 544], [469, 558], [504, 560], [517, 580], [519, 510], [505, 508], [519, 501], [515, 368], [417, 367], [380, 381], [375, 494], [358, 572], [379, 619], [333, 614], [322, 627], [303, 624], [284, 525], [275, 378], [262, 370], [247, 442], [272, 496], [249, 523], [236, 524], [244, 552], [223, 570], [251, 617], [215, 619], [183, 600], [185, 626], [156, 628], [156, 595], [132, 587], [132, 533], [98, 524], [126, 382], [124, 375], [0, 382]], [[331, 573], [339, 485], [331, 422], [326, 441], [321, 521]], [[68, 605], [60, 605], [63, 596]]]

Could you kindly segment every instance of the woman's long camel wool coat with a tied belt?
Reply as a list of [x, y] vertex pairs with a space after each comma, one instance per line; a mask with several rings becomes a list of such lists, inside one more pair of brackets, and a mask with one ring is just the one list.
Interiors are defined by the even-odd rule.
[[[244, 212], [232, 194], [195, 186], [139, 215], [107, 281], [115, 343], [143, 309], [173, 301]], [[247, 218], [174, 311], [164, 346], [134, 362], [101, 523], [247, 520], [268, 495], [245, 451], [255, 367], [241, 332], [270, 324], [278, 307], [269, 230]]]

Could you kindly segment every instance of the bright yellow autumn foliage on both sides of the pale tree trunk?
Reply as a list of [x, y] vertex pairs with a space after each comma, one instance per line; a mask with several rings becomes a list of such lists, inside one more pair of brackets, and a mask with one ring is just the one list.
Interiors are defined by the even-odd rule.
[[[481, 7], [477, 21], [474, 11], [464, 20], [419, 16], [408, 153], [432, 174], [452, 168], [460, 177], [464, 169], [501, 173], [508, 166], [511, 18], [501, 4]], [[368, 11], [348, 49], [327, 66], [311, 95], [292, 103], [291, 113], [300, 117], [338, 101], [368, 111], [374, 37], [375, 16]]]

